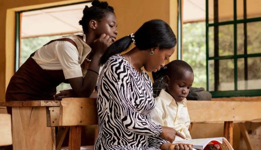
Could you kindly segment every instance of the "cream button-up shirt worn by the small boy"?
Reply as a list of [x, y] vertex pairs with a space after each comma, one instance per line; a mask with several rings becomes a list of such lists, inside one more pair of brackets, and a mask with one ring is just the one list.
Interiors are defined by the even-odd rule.
[[[191, 139], [186, 98], [181, 102], [176, 102], [168, 92], [162, 89], [159, 96], [155, 98], [155, 108], [152, 110], [151, 116], [154, 122], [162, 126], [172, 127], [186, 138]], [[177, 137], [175, 141], [178, 139]]]

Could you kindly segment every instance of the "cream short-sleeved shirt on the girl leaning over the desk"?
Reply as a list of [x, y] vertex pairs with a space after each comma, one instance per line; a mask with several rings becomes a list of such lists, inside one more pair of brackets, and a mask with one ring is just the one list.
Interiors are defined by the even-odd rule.
[[32, 57], [36, 63], [46, 70], [63, 70], [65, 79], [83, 76], [81, 63], [90, 53], [91, 47], [75, 33], [61, 38], [71, 38], [78, 49], [69, 41], [53, 41], [37, 49]]

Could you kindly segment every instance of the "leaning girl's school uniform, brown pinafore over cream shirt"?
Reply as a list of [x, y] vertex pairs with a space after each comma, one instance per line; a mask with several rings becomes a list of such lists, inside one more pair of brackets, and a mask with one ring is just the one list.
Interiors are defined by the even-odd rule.
[[81, 63], [91, 48], [77, 35], [83, 33], [52, 40], [32, 53], [12, 76], [6, 101], [53, 99], [56, 86], [68, 83], [68, 78], [83, 76]]

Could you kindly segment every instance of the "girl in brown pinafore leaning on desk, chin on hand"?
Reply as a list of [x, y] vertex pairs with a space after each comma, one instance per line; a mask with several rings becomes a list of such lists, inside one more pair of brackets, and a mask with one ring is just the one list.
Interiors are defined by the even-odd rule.
[[[117, 21], [113, 7], [94, 0], [91, 7], [85, 6], [79, 24], [83, 33], [52, 40], [28, 58], [11, 78], [6, 101], [53, 99], [62, 82], [70, 83], [73, 96], [90, 96], [99, 74], [98, 61], [116, 39]], [[70, 96], [61, 95], [58, 98]]]

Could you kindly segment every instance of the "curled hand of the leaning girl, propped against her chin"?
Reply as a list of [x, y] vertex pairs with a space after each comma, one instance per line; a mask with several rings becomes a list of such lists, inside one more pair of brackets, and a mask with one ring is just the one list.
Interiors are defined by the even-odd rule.
[[99, 38], [95, 39], [92, 43], [92, 49], [95, 54], [101, 56], [106, 49], [112, 44], [113, 40], [109, 35], [101, 34]]

